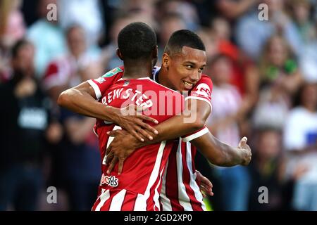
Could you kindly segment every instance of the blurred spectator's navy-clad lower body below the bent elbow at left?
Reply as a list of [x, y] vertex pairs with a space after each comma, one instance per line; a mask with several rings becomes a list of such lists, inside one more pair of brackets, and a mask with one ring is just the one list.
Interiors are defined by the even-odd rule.
[[58, 153], [58, 181], [68, 196], [69, 210], [89, 211], [96, 200], [101, 177], [96, 120], [61, 109], [66, 136]]

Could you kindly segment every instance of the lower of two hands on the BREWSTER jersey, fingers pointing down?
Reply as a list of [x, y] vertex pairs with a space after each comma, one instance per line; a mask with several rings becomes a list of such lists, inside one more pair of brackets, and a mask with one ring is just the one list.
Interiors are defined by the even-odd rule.
[[107, 134], [115, 137], [106, 149], [106, 165], [109, 165], [107, 174], [111, 173], [117, 162], [118, 174], [120, 174], [122, 172], [123, 162], [125, 159], [128, 158], [128, 156], [131, 155], [135, 149], [137, 149], [133, 144], [136, 139], [127, 131], [120, 129], [109, 131]]

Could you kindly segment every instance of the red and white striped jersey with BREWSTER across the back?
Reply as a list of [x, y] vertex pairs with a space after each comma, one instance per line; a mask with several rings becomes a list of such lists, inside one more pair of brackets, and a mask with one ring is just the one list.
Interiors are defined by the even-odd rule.
[[[184, 97], [177, 91], [157, 84], [149, 77], [142, 79], [118, 79], [122, 70], [116, 68], [101, 79], [91, 80], [92, 86], [101, 103], [116, 108], [127, 105], [147, 105], [144, 115], [149, 115], [163, 122], [174, 115], [180, 114], [184, 106]], [[103, 79], [102, 79], [103, 78]], [[106, 82], [116, 81], [101, 91], [99, 86]], [[154, 124], [149, 123], [154, 126]], [[120, 129], [115, 124], [97, 120], [94, 131], [99, 137], [99, 148], [103, 159], [102, 177], [99, 185], [99, 198], [92, 210], [160, 210], [159, 193], [161, 178], [173, 146], [173, 141], [162, 141], [144, 148], [139, 148], [127, 158], [123, 165], [123, 173], [118, 175], [118, 165], [111, 174], [106, 174], [105, 151], [113, 140], [107, 131]]]

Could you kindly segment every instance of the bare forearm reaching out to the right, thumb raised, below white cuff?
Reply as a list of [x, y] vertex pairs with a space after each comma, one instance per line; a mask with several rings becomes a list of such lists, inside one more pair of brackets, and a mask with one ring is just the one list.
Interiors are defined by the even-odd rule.
[[190, 141], [204, 157], [213, 165], [232, 167], [235, 165], [249, 165], [251, 149], [247, 145], [247, 138], [241, 139], [239, 146], [234, 148], [216, 139], [210, 132]]

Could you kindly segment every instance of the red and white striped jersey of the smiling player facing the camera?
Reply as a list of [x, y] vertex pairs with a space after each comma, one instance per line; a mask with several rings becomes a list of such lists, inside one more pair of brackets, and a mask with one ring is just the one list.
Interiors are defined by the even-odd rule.
[[[154, 80], [157, 79], [159, 68], [154, 68]], [[194, 98], [206, 101], [211, 106], [211, 91], [213, 83], [210, 77], [202, 75], [186, 99]], [[211, 106], [212, 108], [212, 106]], [[196, 148], [189, 141], [203, 136], [209, 130], [203, 129], [183, 138], [173, 144], [173, 150], [168, 157], [168, 164], [163, 174], [161, 189], [161, 209], [164, 211], [202, 211], [206, 210], [203, 196], [197, 182], [194, 166]], [[175, 182], [177, 181], [177, 182]]]

